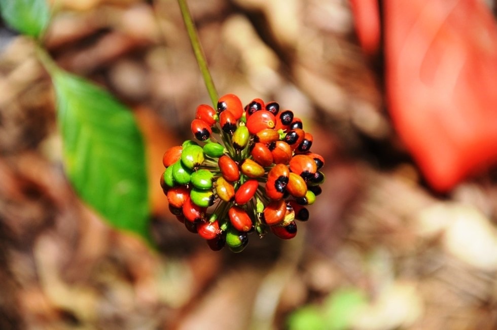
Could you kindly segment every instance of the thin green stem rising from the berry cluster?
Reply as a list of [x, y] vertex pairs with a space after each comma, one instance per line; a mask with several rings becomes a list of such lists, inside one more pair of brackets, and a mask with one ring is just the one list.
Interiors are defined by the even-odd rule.
[[177, 2], [180, 5], [181, 15], [183, 16], [183, 21], [185, 22], [188, 36], [192, 44], [193, 53], [195, 54], [200, 72], [202, 73], [205, 87], [207, 88], [207, 92], [209, 93], [210, 100], [212, 101], [214, 108], [217, 108], [219, 98], [218, 92], [216, 91], [214, 81], [212, 81], [212, 77], [210, 76], [210, 71], [207, 67], [207, 61], [205, 60], [202, 46], [200, 45], [200, 41], [198, 40], [198, 33], [195, 24], [193, 23], [192, 15], [190, 14], [190, 10], [188, 9], [186, 0], [177, 0]]

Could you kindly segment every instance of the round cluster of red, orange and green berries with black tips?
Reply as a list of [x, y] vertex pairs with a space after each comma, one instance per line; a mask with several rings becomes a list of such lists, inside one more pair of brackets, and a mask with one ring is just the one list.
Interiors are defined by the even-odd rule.
[[186, 140], [162, 159], [171, 213], [213, 250], [240, 252], [254, 231], [295, 237], [295, 220], [307, 221], [305, 205], [324, 181], [324, 159], [310, 152], [302, 121], [276, 102], [256, 98], [243, 107], [227, 94], [217, 110], [199, 105], [191, 130], [202, 142]]

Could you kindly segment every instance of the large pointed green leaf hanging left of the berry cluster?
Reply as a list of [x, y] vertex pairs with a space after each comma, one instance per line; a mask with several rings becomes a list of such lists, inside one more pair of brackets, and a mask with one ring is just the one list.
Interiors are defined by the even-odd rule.
[[150, 242], [145, 146], [131, 111], [83, 78], [52, 75], [64, 166], [75, 190], [111, 225]]

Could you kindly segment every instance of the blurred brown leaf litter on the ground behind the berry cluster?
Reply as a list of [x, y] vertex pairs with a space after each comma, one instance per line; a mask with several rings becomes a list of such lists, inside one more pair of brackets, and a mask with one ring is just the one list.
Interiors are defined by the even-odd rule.
[[238, 254], [186, 231], [159, 186], [163, 153], [209, 103], [177, 3], [57, 4], [44, 40], [54, 60], [129, 105], [143, 130], [159, 250], [72, 191], [50, 77], [32, 41], [3, 25], [1, 329], [497, 328], [494, 168], [432, 190], [347, 1], [188, 1], [219, 94], [292, 109], [326, 159], [297, 237], [251, 237]]

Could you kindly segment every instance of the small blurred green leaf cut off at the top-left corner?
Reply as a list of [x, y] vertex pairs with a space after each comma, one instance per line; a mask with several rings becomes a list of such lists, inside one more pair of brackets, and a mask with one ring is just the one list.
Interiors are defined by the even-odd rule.
[[0, 0], [2, 18], [21, 33], [39, 38], [50, 21], [47, 0]]

